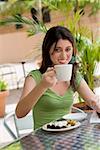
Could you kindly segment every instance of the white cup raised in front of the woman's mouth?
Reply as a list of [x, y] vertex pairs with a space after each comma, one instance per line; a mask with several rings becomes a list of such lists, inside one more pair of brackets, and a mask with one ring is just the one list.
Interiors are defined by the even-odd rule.
[[54, 66], [59, 81], [70, 81], [72, 76], [72, 64]]

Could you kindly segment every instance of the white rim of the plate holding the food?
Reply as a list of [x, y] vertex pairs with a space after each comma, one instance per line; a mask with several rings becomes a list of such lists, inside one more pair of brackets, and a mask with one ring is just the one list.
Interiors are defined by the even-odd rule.
[[78, 128], [81, 125], [81, 123], [77, 122], [74, 126], [70, 126], [70, 127], [66, 127], [66, 128], [61, 128], [61, 129], [50, 129], [50, 128], [47, 128], [47, 125], [48, 124], [45, 124], [42, 127], [42, 129], [45, 130], [45, 131], [59, 132], [59, 131], [68, 131], [68, 130], [72, 130], [72, 129]]

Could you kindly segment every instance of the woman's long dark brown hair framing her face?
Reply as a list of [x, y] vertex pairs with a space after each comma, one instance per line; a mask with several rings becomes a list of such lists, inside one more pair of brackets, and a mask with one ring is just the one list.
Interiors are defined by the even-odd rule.
[[[70, 32], [69, 29], [62, 26], [54, 26], [51, 27], [45, 37], [42, 44], [42, 64], [40, 67], [40, 72], [43, 74], [48, 67], [53, 66], [52, 61], [50, 59], [50, 48], [55, 43], [57, 44], [58, 40], [60, 39], [66, 39], [71, 42], [73, 46], [73, 56], [76, 56], [76, 48], [75, 48], [75, 40]], [[76, 78], [76, 70], [77, 70], [78, 64], [76, 62], [73, 63], [73, 71], [72, 71], [72, 78], [71, 78], [71, 85], [75, 89], [75, 78]]]

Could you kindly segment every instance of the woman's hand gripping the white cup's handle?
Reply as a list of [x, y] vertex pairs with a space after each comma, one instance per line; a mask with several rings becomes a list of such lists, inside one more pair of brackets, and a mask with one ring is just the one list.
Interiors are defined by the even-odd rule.
[[56, 73], [53, 67], [49, 67], [42, 76], [42, 84], [44, 87], [49, 88], [56, 84]]

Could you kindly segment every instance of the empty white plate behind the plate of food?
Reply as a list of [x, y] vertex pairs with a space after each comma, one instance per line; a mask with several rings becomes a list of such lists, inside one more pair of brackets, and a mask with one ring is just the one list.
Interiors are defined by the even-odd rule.
[[70, 113], [67, 115], [64, 115], [62, 118], [63, 119], [72, 119], [76, 121], [82, 121], [87, 117], [86, 113]]

